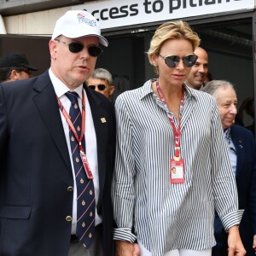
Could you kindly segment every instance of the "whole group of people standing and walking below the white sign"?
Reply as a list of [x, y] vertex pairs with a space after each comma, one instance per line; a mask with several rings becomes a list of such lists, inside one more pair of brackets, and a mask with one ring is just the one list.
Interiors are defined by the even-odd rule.
[[255, 139], [200, 45], [185, 21], [159, 26], [157, 79], [115, 102], [85, 10], [56, 21], [44, 73], [0, 58], [1, 256], [256, 253]]

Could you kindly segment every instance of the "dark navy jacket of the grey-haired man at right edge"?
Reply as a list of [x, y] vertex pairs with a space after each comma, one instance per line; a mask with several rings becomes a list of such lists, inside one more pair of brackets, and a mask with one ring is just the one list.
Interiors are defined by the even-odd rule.
[[[253, 133], [239, 125], [232, 125], [231, 138], [236, 147], [236, 186], [238, 191], [239, 208], [245, 212], [241, 218], [241, 241], [247, 250], [247, 255], [253, 253], [253, 235], [256, 235], [256, 144]], [[227, 235], [224, 232], [218, 216], [214, 222], [214, 236], [217, 241], [212, 255], [228, 255]], [[218, 253], [215, 253], [215, 250]], [[219, 252], [222, 251], [222, 254]], [[226, 254], [225, 254], [226, 253]]]

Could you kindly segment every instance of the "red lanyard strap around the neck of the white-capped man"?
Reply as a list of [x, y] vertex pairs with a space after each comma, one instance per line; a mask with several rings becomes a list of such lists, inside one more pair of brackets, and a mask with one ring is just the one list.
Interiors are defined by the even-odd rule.
[[80, 152], [84, 153], [84, 148], [82, 146], [82, 139], [84, 137], [84, 131], [85, 131], [85, 98], [84, 98], [84, 90], [83, 90], [83, 94], [82, 94], [82, 127], [81, 127], [81, 134], [80, 137], [75, 129], [75, 127], [73, 126], [73, 122], [69, 117], [69, 114], [67, 113], [66, 109], [63, 107], [63, 105], [61, 104], [60, 99], [57, 97], [57, 101], [59, 104], [59, 108], [61, 109], [61, 113], [63, 113], [63, 116], [65, 117], [65, 119], [67, 120], [67, 124], [69, 125], [71, 131], [73, 131], [73, 134], [77, 140], [77, 142], [79, 143], [79, 150]]

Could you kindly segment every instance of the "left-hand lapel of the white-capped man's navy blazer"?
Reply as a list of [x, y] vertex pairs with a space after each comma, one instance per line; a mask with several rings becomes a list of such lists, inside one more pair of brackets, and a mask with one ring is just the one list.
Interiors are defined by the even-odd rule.
[[60, 151], [67, 168], [72, 172], [61, 115], [48, 71], [38, 77], [34, 90], [36, 90], [36, 93], [33, 96], [33, 101], [37, 105], [38, 111], [42, 119], [44, 119], [44, 123], [48, 127], [49, 133]]

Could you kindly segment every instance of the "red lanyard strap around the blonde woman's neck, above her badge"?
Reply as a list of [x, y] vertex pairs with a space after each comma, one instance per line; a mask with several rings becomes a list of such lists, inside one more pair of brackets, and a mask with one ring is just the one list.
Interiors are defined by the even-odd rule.
[[172, 116], [172, 113], [170, 112], [167, 104], [166, 104], [166, 99], [165, 96], [163, 95], [162, 91], [160, 90], [160, 86], [158, 83], [158, 80], [156, 81], [156, 90], [160, 96], [161, 102], [163, 102], [165, 108], [166, 108], [166, 113], [168, 114], [169, 121], [172, 125], [172, 131], [174, 134], [174, 147], [175, 147], [175, 157], [179, 159], [179, 148], [180, 148], [180, 136], [181, 136], [181, 118], [182, 118], [182, 113], [183, 113], [183, 106], [184, 106], [184, 90], [182, 92], [182, 96], [180, 98], [180, 107], [179, 107], [179, 122], [178, 122], [178, 127], [176, 129], [176, 126], [174, 124], [174, 119]]

